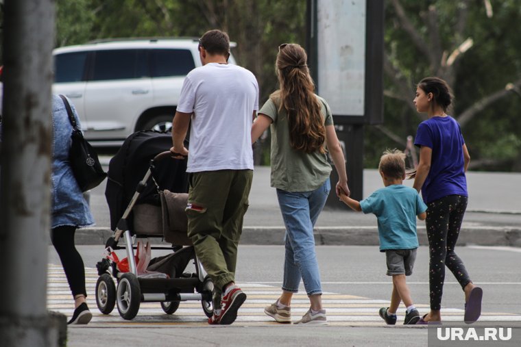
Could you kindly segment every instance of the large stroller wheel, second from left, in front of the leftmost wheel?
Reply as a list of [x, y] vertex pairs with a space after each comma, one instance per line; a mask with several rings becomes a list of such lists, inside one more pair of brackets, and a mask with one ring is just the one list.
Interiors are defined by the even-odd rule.
[[139, 305], [141, 304], [141, 288], [134, 274], [127, 272], [121, 276], [117, 287], [116, 298], [119, 316], [125, 320], [131, 320], [136, 317], [139, 311]]

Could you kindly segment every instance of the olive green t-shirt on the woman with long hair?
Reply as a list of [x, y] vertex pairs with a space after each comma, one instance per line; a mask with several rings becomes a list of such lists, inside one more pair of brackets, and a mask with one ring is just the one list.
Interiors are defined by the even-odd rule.
[[[333, 118], [329, 105], [321, 97], [324, 125], [332, 125]], [[276, 105], [277, 103], [277, 105]], [[305, 153], [292, 149], [289, 144], [289, 127], [286, 110], [278, 110], [278, 100], [272, 98], [260, 108], [273, 120], [271, 123], [271, 187], [286, 192], [310, 192], [324, 184], [331, 172], [327, 155], [315, 151]]]

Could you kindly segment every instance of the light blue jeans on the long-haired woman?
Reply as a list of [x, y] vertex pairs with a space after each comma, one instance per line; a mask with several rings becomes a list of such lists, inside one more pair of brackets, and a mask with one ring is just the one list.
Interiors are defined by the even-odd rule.
[[322, 294], [313, 227], [326, 204], [330, 189], [327, 179], [324, 185], [311, 192], [277, 190], [278, 204], [286, 227], [282, 283], [282, 290], [286, 292], [298, 292], [302, 278], [308, 296]]

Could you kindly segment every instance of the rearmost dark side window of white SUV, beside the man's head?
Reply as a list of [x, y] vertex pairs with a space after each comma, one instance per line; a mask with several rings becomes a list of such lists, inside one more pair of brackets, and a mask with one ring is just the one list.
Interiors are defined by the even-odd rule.
[[193, 68], [188, 49], [152, 49], [152, 77], [185, 76]]

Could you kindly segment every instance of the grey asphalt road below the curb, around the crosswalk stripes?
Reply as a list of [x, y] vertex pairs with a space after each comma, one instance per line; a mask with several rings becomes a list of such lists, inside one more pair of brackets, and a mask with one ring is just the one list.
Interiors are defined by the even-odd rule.
[[[85, 265], [93, 267], [101, 257], [103, 246], [79, 246], [79, 249]], [[156, 252], [153, 255], [162, 251]], [[460, 247], [457, 252], [474, 283], [483, 287], [483, 312], [521, 313], [519, 248]], [[389, 300], [391, 282], [385, 275], [385, 256], [376, 246], [317, 246], [317, 255], [324, 291]], [[279, 287], [283, 260], [282, 246], [240, 246], [237, 281]], [[60, 264], [52, 247], [49, 247], [49, 262]], [[408, 282], [415, 303], [428, 304], [426, 247], [419, 248], [414, 273]], [[442, 305], [463, 307], [463, 293], [452, 274], [446, 277]], [[91, 309], [96, 310], [96, 307]], [[426, 313], [424, 311], [426, 309], [420, 313]], [[125, 322], [110, 329], [96, 324], [69, 327], [69, 346], [427, 346], [427, 334], [427, 329], [398, 325], [300, 329], [298, 326], [267, 323], [256, 326], [238, 323], [230, 327], [166, 326], [158, 323], [140, 327]]]

